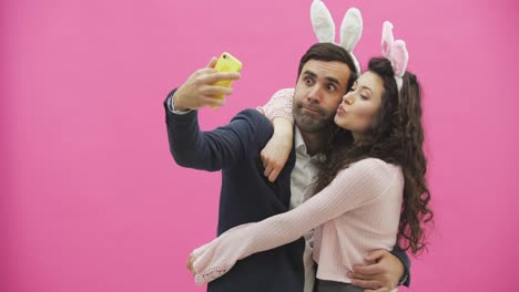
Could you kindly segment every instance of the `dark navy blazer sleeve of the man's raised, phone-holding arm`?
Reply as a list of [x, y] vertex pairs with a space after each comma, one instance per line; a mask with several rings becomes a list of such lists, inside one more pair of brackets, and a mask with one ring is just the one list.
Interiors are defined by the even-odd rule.
[[202, 132], [197, 111], [174, 114], [164, 101], [170, 152], [183, 167], [215, 171], [228, 168], [251, 154], [257, 154], [273, 134], [271, 122], [255, 109], [240, 112], [222, 127]]

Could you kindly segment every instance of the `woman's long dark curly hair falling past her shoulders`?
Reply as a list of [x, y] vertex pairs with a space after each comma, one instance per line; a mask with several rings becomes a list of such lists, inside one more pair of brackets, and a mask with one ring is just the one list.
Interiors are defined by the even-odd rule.
[[334, 129], [315, 192], [328, 186], [339, 170], [364, 158], [374, 157], [399, 165], [405, 185], [397, 242], [401, 249], [410, 249], [417, 254], [426, 248], [425, 225], [432, 223], [434, 216], [428, 207], [430, 194], [423, 149], [420, 85], [413, 73], [406, 72], [398, 94], [393, 66], [384, 58], [372, 59], [368, 71], [380, 76], [384, 82], [381, 105], [373, 128], [360, 143], [354, 143], [349, 131], [338, 126]]

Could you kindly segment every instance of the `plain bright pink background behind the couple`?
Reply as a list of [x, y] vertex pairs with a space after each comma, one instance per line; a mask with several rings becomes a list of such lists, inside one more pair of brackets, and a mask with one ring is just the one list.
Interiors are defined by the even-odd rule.
[[[423, 83], [436, 229], [410, 291], [517, 290], [519, 6], [326, 4], [337, 27], [362, 10], [363, 66], [391, 20]], [[244, 71], [227, 106], [201, 111], [204, 128], [293, 86], [309, 6], [3, 0], [0, 291], [204, 291], [184, 264], [214, 237], [220, 174], [174, 164], [162, 101], [223, 51]]]

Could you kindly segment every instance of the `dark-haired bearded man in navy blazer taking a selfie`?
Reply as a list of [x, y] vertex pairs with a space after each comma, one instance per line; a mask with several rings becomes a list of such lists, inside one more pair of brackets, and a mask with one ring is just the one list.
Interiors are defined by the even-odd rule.
[[[254, 109], [238, 113], [230, 124], [202, 133], [196, 111], [222, 105], [215, 94], [232, 90], [214, 86], [217, 81], [236, 80], [237, 73], [218, 73], [207, 67], [193, 73], [164, 102], [170, 149], [181, 166], [222, 170], [218, 230], [261, 221], [297, 207], [308, 197], [316, 160], [326, 146], [333, 117], [343, 95], [355, 81], [355, 65], [340, 46], [318, 43], [301, 60], [294, 95], [295, 148], [286, 166], [271, 182], [264, 175], [260, 152], [273, 135], [271, 122]], [[309, 174], [309, 179], [305, 175]], [[231, 291], [312, 291], [312, 263], [305, 261], [303, 238], [286, 246], [253, 254], [238, 261], [231, 271], [208, 284], [211, 292]], [[376, 264], [360, 267], [352, 275], [354, 284], [389, 291], [406, 274], [409, 260], [405, 252], [376, 251]], [[306, 253], [307, 255], [307, 253]], [[308, 259], [308, 257], [306, 257]], [[404, 264], [406, 267], [404, 267]], [[305, 282], [305, 268], [306, 282]], [[215, 271], [216, 272], [216, 271]]]

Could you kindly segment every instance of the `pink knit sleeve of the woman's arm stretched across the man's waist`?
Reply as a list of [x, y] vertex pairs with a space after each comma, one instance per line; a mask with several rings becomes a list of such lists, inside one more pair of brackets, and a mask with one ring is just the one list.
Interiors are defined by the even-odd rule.
[[292, 242], [348, 210], [376, 200], [396, 180], [395, 168], [367, 158], [339, 171], [299, 207], [263, 221], [238, 226], [193, 251], [197, 284], [226, 273], [237, 260]]

